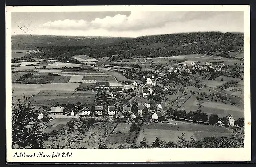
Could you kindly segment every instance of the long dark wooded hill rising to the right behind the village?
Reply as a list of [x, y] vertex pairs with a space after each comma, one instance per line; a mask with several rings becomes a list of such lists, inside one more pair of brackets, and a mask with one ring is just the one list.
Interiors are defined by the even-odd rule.
[[93, 58], [110, 57], [112, 60], [117, 60], [121, 57], [129, 58], [131, 56], [165, 57], [195, 53], [210, 54], [221, 51], [239, 51], [244, 45], [244, 34], [194, 32], [104, 40], [98, 42], [98, 45], [95, 42], [91, 46], [61, 46], [57, 44], [56, 46], [44, 47], [41, 56], [46, 58], [63, 58], [85, 54]]

